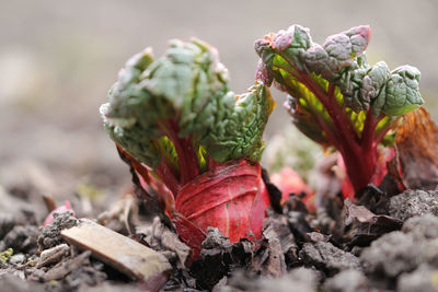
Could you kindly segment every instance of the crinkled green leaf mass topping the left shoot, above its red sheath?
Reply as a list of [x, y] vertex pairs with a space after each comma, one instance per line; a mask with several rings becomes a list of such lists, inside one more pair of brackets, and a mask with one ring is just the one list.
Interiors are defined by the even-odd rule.
[[228, 82], [228, 70], [206, 43], [173, 40], [154, 61], [147, 49], [128, 60], [101, 107], [105, 129], [152, 168], [165, 157], [177, 173], [172, 139], [183, 138], [193, 143], [201, 171], [208, 156], [260, 160], [274, 102], [261, 82], [242, 95], [231, 92]]

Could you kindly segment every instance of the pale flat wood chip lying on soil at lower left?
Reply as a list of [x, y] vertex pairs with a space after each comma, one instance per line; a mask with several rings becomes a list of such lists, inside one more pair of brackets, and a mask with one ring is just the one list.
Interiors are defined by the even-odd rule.
[[172, 269], [155, 250], [91, 220], [81, 219], [78, 226], [62, 230], [61, 236], [132, 279], [147, 281]]

